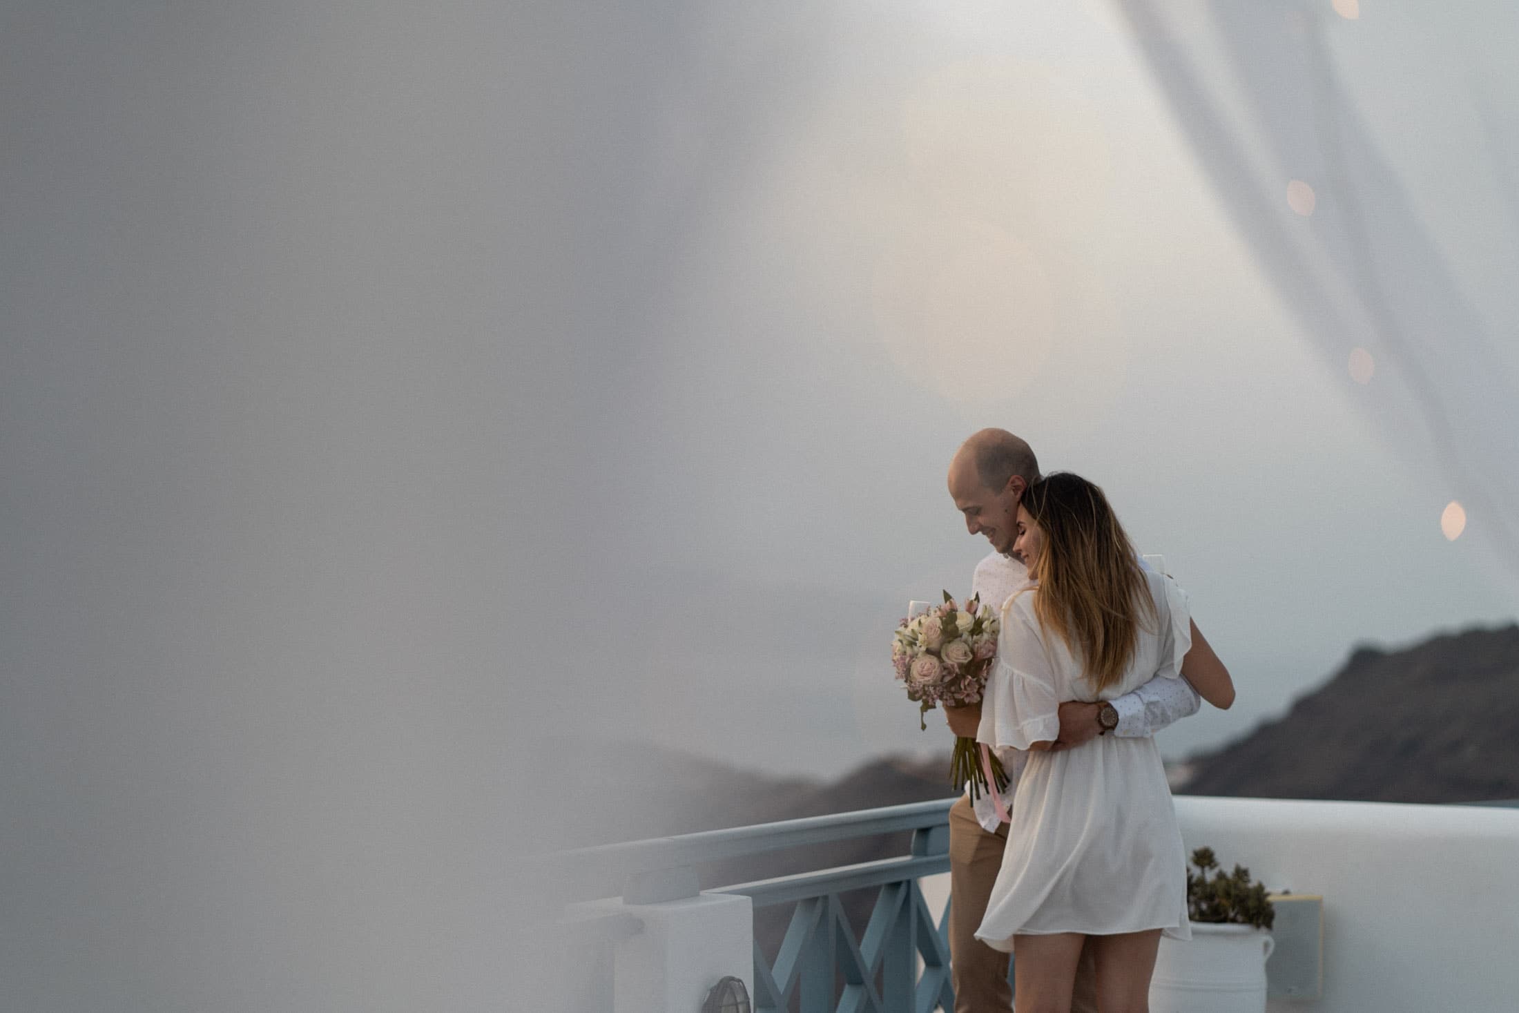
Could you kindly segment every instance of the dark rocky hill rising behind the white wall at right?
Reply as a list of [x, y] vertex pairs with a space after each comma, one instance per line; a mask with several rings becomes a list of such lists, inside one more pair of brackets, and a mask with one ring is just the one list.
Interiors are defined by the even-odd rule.
[[1185, 794], [1519, 799], [1519, 626], [1363, 647], [1279, 721], [1186, 768]]

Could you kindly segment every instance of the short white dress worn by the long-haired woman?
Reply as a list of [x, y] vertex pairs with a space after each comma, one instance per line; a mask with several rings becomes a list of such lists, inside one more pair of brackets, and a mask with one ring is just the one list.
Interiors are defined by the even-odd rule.
[[[1145, 571], [1145, 579], [1157, 621], [1141, 612], [1129, 670], [1101, 694], [1065, 641], [1041, 630], [1037, 586], [1009, 598], [977, 738], [998, 752], [1024, 750], [1059, 737], [1062, 700], [1110, 700], [1150, 679], [1180, 679], [1191, 647], [1186, 594], [1162, 574]], [[1010, 951], [1019, 933], [1154, 928], [1191, 939], [1182, 832], [1154, 740], [1107, 734], [1074, 749], [1027, 753], [1003, 869], [977, 939]]]

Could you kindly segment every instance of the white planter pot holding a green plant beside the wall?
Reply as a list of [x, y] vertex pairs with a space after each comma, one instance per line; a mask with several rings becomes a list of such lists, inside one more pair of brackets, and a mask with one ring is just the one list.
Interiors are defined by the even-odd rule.
[[1161, 939], [1150, 1013], [1264, 1013], [1271, 936], [1249, 925], [1192, 922], [1191, 942]]

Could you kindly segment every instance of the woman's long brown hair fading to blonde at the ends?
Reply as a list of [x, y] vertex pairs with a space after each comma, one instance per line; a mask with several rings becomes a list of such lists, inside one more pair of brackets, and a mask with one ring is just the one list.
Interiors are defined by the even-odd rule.
[[1024, 492], [1044, 533], [1034, 560], [1034, 617], [1086, 662], [1097, 691], [1116, 683], [1139, 644], [1139, 614], [1156, 617], [1139, 557], [1103, 491], [1054, 472]]

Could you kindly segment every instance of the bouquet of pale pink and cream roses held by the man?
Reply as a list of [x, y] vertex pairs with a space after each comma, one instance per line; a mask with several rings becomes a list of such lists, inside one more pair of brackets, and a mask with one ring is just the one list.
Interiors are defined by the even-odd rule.
[[[939, 703], [966, 706], [981, 702], [1001, 629], [996, 611], [981, 604], [978, 595], [960, 607], [948, 591], [943, 594], [943, 604], [902, 620], [892, 639], [892, 664], [898, 680], [907, 683], [907, 699], [919, 705], [921, 729], [928, 727], [924, 715]], [[996, 790], [1004, 791], [1007, 773], [1003, 764], [990, 750], [986, 758]], [[958, 788], [968, 781], [972, 797], [980, 797], [989, 787], [986, 770], [977, 762], [975, 740], [958, 735], [949, 761], [949, 782]]]

